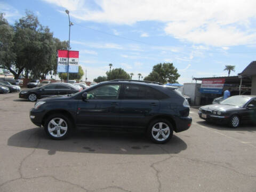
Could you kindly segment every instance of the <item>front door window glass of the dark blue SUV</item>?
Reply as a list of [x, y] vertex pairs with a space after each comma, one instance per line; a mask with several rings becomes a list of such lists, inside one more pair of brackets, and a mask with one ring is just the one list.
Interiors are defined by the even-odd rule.
[[87, 99], [118, 99], [121, 85], [102, 85], [87, 92]]

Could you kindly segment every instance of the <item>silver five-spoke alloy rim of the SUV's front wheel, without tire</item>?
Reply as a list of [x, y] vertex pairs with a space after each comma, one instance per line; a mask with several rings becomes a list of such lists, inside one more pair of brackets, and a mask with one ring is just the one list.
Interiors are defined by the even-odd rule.
[[67, 133], [68, 124], [62, 118], [53, 118], [48, 123], [48, 131], [49, 133], [56, 138], [62, 137]]

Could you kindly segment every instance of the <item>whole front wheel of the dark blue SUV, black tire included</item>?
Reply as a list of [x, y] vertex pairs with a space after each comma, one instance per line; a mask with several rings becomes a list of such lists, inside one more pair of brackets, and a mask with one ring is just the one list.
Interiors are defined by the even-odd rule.
[[46, 119], [44, 130], [51, 139], [62, 140], [70, 135], [72, 123], [66, 115], [54, 114]]

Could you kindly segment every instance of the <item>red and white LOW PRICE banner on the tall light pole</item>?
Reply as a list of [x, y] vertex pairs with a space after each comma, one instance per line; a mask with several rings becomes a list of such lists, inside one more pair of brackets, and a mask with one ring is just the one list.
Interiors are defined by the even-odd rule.
[[79, 51], [58, 50], [57, 73], [78, 73], [78, 60]]

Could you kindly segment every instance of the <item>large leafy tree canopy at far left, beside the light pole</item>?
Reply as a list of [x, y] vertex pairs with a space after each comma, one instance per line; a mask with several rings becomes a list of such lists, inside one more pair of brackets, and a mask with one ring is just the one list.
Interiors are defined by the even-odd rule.
[[0, 67], [8, 69], [17, 79], [23, 71], [44, 79], [57, 73], [57, 50], [67, 49], [68, 42], [54, 38], [30, 11], [13, 26], [0, 17]]

